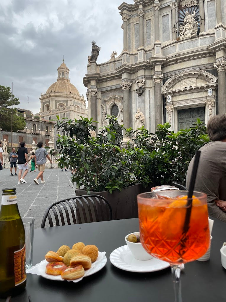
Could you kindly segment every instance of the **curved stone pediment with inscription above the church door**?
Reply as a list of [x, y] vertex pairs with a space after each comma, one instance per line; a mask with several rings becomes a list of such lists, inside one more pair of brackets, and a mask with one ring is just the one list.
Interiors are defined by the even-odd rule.
[[[199, 88], [205, 85], [211, 86], [216, 83], [217, 78], [211, 73], [203, 70], [190, 70], [186, 72], [181, 72], [177, 75], [172, 76], [167, 82], [162, 86], [162, 93], [173, 92], [173, 91], [183, 91], [189, 88]], [[215, 86], [215, 85], [214, 85]]]

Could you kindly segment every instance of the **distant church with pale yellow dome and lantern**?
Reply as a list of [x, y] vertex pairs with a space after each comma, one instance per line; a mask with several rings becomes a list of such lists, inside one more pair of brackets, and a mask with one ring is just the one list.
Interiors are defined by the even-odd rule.
[[[43, 120], [55, 120], [56, 115], [60, 119], [66, 117], [72, 120], [80, 119], [80, 116], [88, 117], [84, 96], [80, 95], [77, 88], [71, 84], [69, 71], [63, 59], [63, 63], [57, 69], [57, 81], [49, 86], [46, 93], [41, 93], [39, 116]], [[54, 141], [58, 134], [62, 135], [62, 130], [54, 128]], [[56, 149], [56, 144], [54, 148]]]

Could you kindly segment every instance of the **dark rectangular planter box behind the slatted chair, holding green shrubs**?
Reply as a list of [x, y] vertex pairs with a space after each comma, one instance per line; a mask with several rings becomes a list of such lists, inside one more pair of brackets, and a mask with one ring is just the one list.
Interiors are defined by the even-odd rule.
[[[110, 194], [108, 191], [91, 192], [90, 194], [97, 194], [107, 199], [112, 208], [112, 219], [126, 219], [137, 218], [137, 195], [145, 192], [145, 188], [141, 184], [132, 185], [127, 188], [123, 188], [122, 191], [113, 191]], [[149, 190], [146, 190], [149, 191]], [[77, 189], [76, 196], [86, 195], [85, 190]]]

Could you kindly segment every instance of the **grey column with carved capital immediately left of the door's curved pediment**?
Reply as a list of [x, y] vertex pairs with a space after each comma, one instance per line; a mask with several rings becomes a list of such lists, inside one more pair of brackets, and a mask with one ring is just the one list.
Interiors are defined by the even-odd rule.
[[154, 75], [153, 81], [155, 83], [155, 127], [162, 124], [162, 84], [163, 75]]

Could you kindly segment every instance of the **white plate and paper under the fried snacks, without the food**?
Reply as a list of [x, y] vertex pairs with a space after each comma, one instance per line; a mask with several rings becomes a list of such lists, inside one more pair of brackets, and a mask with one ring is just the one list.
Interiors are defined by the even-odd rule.
[[[92, 263], [91, 268], [89, 268], [87, 271], [85, 271], [85, 275], [83, 277], [93, 275], [94, 273], [96, 273], [97, 271], [99, 271], [100, 269], [102, 269], [105, 266], [105, 264], [107, 262], [107, 258], [105, 256], [105, 254], [106, 254], [106, 252], [99, 252], [99, 255], [98, 255], [96, 261]], [[83, 277], [81, 277], [81, 278], [75, 279], [75, 280], [64, 280], [61, 278], [60, 275], [59, 276], [48, 275], [45, 272], [47, 264], [48, 264], [48, 262], [46, 260], [42, 260], [40, 263], [29, 268], [27, 270], [27, 274], [35, 274], [35, 275], [42, 276], [46, 279], [56, 280], [56, 281], [79, 282], [83, 278]]]

